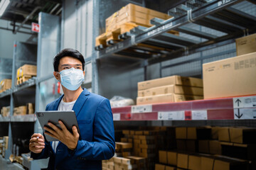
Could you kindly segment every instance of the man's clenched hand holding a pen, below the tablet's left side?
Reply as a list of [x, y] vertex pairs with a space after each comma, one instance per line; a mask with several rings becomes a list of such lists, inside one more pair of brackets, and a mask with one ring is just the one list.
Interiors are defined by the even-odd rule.
[[41, 153], [43, 148], [45, 147], [44, 142], [45, 140], [43, 135], [41, 135], [40, 133], [34, 133], [31, 136], [31, 140], [29, 140], [29, 150], [36, 154]]

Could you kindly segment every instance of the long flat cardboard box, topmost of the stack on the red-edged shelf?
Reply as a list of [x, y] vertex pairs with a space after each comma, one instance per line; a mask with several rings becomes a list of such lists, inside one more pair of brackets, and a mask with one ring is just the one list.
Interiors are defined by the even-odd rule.
[[171, 76], [171, 77], [164, 77], [160, 79], [152, 79], [148, 81], [138, 82], [138, 91], [151, 89], [159, 86], [167, 86], [167, 85], [203, 87], [203, 80], [193, 78], [193, 77], [181, 77], [181, 76]]

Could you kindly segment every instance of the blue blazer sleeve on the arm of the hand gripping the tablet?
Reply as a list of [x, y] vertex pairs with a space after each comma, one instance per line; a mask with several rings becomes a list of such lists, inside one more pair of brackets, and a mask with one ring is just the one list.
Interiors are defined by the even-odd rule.
[[78, 140], [72, 156], [82, 159], [110, 159], [114, 155], [114, 123], [110, 101], [104, 98], [97, 107], [94, 120], [94, 142]]

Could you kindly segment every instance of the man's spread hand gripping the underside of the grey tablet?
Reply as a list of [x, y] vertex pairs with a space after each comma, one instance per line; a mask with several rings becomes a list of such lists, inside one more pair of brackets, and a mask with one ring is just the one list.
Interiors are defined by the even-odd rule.
[[44, 127], [45, 130], [48, 132], [45, 132], [46, 135], [49, 135], [50, 137], [54, 137], [57, 140], [60, 140], [60, 142], [63, 142], [64, 145], [66, 145], [69, 149], [73, 150], [77, 147], [78, 145], [78, 139], [79, 139], [79, 134], [78, 134], [78, 129], [73, 126], [73, 134], [68, 131], [68, 129], [65, 127], [64, 123], [62, 121], [58, 121], [60, 124], [60, 128], [57, 126], [53, 125], [53, 123], [48, 123], [50, 128], [47, 128], [46, 126]]

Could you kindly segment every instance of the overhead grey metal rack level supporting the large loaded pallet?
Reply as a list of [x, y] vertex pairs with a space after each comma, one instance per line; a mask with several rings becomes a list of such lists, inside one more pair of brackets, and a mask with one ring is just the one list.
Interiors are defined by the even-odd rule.
[[[96, 47], [99, 50], [97, 59], [110, 57], [111, 55], [129, 56], [133, 59], [143, 60], [144, 64], [141, 64], [142, 62], [137, 64], [146, 66], [234, 42], [235, 38], [246, 35], [246, 33], [256, 32], [256, 17], [232, 8], [234, 4], [240, 2], [242, 1], [187, 1], [186, 6], [181, 4], [169, 11], [169, 14], [174, 18], [166, 21], [154, 18], [151, 20], [151, 24], [154, 24], [151, 28], [138, 26], [130, 30], [129, 33], [119, 35], [120, 39], [124, 39], [123, 41], [114, 45], [109, 43], [110, 47], [106, 48]], [[255, 1], [250, 2], [255, 5]], [[216, 36], [193, 30], [184, 26], [188, 23], [213, 28], [223, 32], [224, 35]], [[206, 40], [197, 42], [196, 40], [166, 33], [168, 30], [178, 30], [181, 33]], [[146, 49], [146, 47], [137, 46], [139, 43], [162, 47], [166, 50]], [[151, 53], [147, 54], [147, 52]]]

